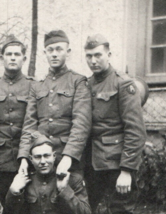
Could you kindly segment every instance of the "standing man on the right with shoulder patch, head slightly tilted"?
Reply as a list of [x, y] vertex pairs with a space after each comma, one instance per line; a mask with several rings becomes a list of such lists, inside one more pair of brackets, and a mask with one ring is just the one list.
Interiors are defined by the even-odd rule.
[[102, 35], [87, 38], [85, 53], [93, 72], [92, 145], [86, 151], [92, 153], [92, 169], [85, 170], [90, 202], [96, 213], [132, 213], [134, 176], [146, 137], [140, 94], [127, 75], [109, 64], [109, 43]]

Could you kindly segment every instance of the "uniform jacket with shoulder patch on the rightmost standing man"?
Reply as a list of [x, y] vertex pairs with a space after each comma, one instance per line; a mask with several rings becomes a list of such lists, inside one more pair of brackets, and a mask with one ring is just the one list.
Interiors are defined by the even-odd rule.
[[137, 170], [145, 143], [141, 99], [134, 82], [111, 66], [89, 79], [92, 92], [92, 165]]

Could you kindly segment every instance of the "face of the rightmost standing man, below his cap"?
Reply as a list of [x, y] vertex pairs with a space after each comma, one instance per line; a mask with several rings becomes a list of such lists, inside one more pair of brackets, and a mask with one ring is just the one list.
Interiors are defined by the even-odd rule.
[[108, 68], [110, 52], [104, 45], [99, 45], [93, 49], [86, 49], [85, 53], [86, 61], [93, 73], [100, 73]]

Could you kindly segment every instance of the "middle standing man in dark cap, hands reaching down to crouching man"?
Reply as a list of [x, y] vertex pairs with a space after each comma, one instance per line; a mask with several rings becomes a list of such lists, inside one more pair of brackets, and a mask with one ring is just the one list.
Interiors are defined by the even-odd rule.
[[70, 53], [64, 31], [45, 35], [45, 54], [50, 65], [47, 77], [30, 91], [18, 158], [27, 174], [30, 134], [39, 130], [49, 137], [57, 152], [57, 174], [79, 170], [91, 128], [91, 96], [84, 76], [66, 66]]

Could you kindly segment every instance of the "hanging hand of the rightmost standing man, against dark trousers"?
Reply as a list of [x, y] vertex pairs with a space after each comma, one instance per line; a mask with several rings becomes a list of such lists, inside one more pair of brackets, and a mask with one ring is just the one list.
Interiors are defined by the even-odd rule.
[[131, 174], [130, 172], [121, 171], [117, 181], [116, 190], [117, 192], [124, 194], [131, 191]]

